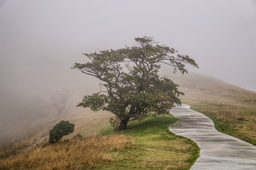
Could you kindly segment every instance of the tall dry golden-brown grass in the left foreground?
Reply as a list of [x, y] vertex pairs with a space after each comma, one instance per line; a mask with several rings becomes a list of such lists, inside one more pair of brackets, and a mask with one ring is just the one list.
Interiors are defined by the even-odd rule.
[[88, 169], [107, 159], [104, 152], [122, 150], [130, 147], [130, 143], [124, 135], [76, 137], [55, 145], [38, 147], [27, 154], [0, 159], [0, 169]]

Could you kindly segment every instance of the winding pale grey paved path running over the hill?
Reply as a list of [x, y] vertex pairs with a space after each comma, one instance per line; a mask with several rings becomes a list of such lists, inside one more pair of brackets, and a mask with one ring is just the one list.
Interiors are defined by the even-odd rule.
[[191, 170], [256, 170], [256, 147], [218, 132], [213, 121], [182, 104], [170, 110], [179, 120], [170, 131], [195, 141], [200, 157]]

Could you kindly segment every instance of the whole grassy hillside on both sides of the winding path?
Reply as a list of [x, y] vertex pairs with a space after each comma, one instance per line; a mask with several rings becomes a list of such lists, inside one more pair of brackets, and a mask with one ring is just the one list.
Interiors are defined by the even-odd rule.
[[[194, 73], [170, 74], [170, 78], [185, 93], [182, 102], [213, 119], [218, 131], [256, 145], [255, 92]], [[29, 124], [16, 133], [12, 133], [14, 129], [5, 132], [12, 138], [1, 139], [0, 169], [40, 169], [43, 165], [44, 169], [188, 169], [198, 157], [194, 142], [169, 132], [170, 123], [176, 122], [171, 115], [146, 119], [110, 134], [111, 114], [75, 107], [84, 92], [79, 88], [73, 92], [72, 101], [61, 115], [40, 99], [40, 113], [46, 115], [28, 119]], [[36, 101], [35, 97], [32, 100]], [[26, 108], [24, 113], [33, 109], [36, 111], [34, 107]], [[74, 123], [74, 133], [56, 145], [42, 147], [49, 129], [60, 120]]]

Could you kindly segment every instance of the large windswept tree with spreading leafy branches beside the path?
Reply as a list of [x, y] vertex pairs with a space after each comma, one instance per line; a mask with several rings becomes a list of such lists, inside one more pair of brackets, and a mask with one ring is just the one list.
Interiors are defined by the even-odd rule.
[[[100, 92], [84, 99], [77, 106], [110, 111], [118, 122], [116, 130], [127, 129], [127, 123], [145, 117], [169, 114], [174, 104], [181, 104], [182, 92], [167, 77], [158, 75], [161, 64], [166, 64], [182, 74], [188, 71], [185, 64], [198, 68], [187, 55], [173, 48], [158, 45], [152, 37], [135, 38], [135, 45], [124, 49], [84, 53], [90, 62], [75, 63], [73, 69], [102, 81]], [[110, 123], [111, 123], [110, 122]]]

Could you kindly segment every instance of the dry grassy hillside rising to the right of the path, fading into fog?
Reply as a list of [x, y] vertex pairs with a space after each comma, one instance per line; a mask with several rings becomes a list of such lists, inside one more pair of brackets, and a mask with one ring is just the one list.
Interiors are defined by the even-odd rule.
[[170, 77], [185, 93], [182, 102], [210, 117], [218, 131], [256, 145], [256, 92], [195, 73]]

